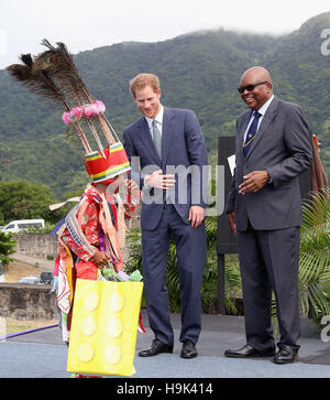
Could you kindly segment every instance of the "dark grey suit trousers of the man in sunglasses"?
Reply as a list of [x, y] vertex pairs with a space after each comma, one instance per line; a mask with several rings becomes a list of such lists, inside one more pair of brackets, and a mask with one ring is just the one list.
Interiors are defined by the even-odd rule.
[[297, 346], [299, 337], [298, 264], [300, 228], [238, 231], [246, 343], [260, 352], [274, 347], [272, 290], [280, 344]]

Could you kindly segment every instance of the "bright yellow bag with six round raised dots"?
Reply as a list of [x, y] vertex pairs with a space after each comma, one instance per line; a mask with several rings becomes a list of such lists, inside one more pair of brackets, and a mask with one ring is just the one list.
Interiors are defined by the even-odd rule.
[[142, 282], [77, 280], [67, 369], [132, 376]]

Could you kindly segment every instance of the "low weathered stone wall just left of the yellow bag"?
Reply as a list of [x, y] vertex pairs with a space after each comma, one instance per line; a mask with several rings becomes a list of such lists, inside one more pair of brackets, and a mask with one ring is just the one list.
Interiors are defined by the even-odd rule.
[[0, 316], [15, 320], [56, 320], [55, 294], [48, 284], [0, 283]]

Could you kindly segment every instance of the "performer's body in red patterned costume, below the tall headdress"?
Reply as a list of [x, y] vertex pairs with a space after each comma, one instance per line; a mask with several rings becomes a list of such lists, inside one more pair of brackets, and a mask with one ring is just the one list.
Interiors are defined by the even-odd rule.
[[135, 205], [131, 202], [139, 196], [135, 190], [122, 203], [119, 188], [125, 186], [131, 193], [132, 185], [135, 185], [124, 175], [89, 183], [81, 201], [68, 213], [56, 233], [58, 256], [54, 275], [58, 275], [57, 304], [66, 343], [69, 339], [76, 279], [96, 280], [109, 262], [117, 272], [123, 269], [124, 220], [132, 217]]

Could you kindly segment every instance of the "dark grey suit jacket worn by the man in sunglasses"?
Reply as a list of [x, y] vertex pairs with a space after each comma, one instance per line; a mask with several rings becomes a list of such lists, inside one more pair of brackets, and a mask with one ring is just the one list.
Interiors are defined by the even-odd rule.
[[[300, 226], [301, 198], [298, 176], [312, 161], [311, 136], [298, 105], [274, 97], [243, 156], [243, 136], [252, 110], [237, 120], [237, 166], [227, 212], [235, 212], [237, 229], [245, 230], [248, 219], [254, 229], [273, 230]], [[271, 183], [256, 193], [239, 194], [243, 176], [267, 170]]]

